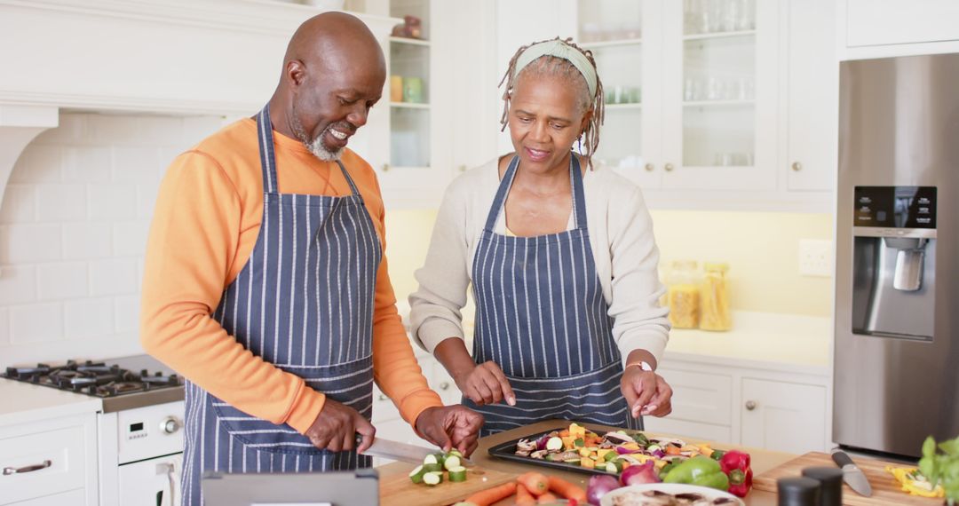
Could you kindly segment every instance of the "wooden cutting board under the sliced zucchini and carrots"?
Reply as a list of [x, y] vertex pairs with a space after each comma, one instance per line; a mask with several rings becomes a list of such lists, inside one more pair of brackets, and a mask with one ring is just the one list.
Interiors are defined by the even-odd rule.
[[[446, 506], [472, 495], [475, 492], [501, 485], [516, 479], [515, 474], [484, 469], [479, 466], [467, 468], [466, 481], [453, 483], [444, 479], [443, 483], [433, 487], [409, 481], [409, 472], [415, 466], [409, 465], [406, 472], [398, 472], [380, 477], [380, 504], [417, 506]], [[444, 476], [445, 478], [445, 476]]]

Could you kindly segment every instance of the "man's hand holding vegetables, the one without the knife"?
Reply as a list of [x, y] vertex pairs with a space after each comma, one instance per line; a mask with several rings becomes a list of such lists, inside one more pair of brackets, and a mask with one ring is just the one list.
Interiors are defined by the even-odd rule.
[[456, 447], [469, 457], [477, 449], [482, 415], [461, 404], [428, 407], [416, 418], [416, 430], [443, 451]]

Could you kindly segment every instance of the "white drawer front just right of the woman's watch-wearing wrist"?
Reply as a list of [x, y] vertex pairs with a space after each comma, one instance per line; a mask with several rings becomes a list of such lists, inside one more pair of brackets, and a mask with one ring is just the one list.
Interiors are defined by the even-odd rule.
[[668, 420], [718, 426], [731, 424], [733, 379], [730, 376], [667, 367], [656, 372], [672, 387], [672, 413]]

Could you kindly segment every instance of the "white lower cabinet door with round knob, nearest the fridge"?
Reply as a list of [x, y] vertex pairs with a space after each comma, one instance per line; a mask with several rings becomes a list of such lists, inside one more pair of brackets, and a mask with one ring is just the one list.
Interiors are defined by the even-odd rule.
[[742, 399], [740, 444], [791, 453], [823, 449], [824, 386], [744, 378]]

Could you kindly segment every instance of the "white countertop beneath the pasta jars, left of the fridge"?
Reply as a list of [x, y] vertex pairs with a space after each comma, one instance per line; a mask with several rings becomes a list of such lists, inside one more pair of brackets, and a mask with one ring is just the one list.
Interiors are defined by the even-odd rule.
[[831, 318], [737, 311], [729, 332], [673, 329], [663, 362], [676, 359], [777, 369], [785, 365], [795, 372], [828, 375], [831, 357]]

